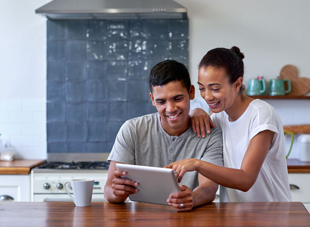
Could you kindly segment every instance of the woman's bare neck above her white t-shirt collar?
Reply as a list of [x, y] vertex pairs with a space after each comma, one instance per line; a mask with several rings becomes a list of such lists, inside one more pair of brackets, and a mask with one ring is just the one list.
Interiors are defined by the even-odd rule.
[[244, 111], [246, 111], [246, 108], [248, 108], [249, 104], [253, 100], [253, 98], [250, 98], [243, 93], [237, 95], [232, 107], [225, 110], [229, 117], [229, 121], [237, 120], [244, 113]]

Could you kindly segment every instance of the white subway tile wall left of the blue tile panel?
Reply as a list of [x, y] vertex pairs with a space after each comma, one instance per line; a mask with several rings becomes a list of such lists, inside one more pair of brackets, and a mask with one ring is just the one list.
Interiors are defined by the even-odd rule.
[[0, 133], [15, 159], [46, 159], [46, 100], [0, 100]]

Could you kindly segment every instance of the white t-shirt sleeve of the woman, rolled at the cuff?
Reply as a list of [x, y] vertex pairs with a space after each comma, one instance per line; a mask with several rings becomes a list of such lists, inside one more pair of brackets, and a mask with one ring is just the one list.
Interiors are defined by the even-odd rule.
[[273, 107], [269, 105], [261, 106], [257, 109], [258, 114], [253, 116], [250, 140], [259, 132], [270, 130], [279, 133], [276, 118], [279, 117]]

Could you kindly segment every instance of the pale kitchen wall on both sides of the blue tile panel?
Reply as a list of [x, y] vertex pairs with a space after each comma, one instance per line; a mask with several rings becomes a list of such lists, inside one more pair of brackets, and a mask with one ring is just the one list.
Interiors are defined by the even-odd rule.
[[[0, 133], [16, 151], [16, 159], [47, 159], [47, 23], [34, 13], [48, 0], [2, 0], [3, 31], [0, 90]], [[310, 78], [308, 67], [308, 1], [185, 1], [188, 10], [189, 71], [200, 98], [197, 64], [214, 47], [239, 46], [245, 52], [245, 85], [251, 78], [279, 76], [286, 64], [299, 77]], [[307, 94], [309, 95], [309, 94]], [[283, 125], [309, 124], [309, 100], [266, 99]], [[297, 138], [297, 137], [296, 137]], [[290, 159], [299, 158], [297, 142]], [[287, 141], [289, 146], [289, 139]], [[108, 149], [106, 150], [106, 153]], [[308, 175], [309, 176], [309, 175]], [[306, 181], [306, 180], [305, 180]], [[308, 201], [310, 202], [310, 201]]]

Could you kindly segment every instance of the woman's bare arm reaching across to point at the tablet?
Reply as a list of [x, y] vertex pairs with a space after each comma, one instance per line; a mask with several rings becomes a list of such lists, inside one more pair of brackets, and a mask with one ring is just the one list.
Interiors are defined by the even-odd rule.
[[255, 183], [266, 158], [274, 132], [265, 130], [250, 140], [241, 168], [217, 166], [198, 159], [185, 159], [166, 166], [179, 172], [179, 181], [187, 171], [198, 171], [211, 181], [228, 188], [248, 191]]

